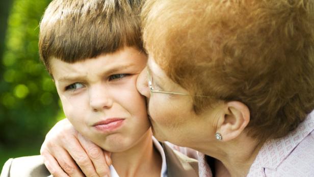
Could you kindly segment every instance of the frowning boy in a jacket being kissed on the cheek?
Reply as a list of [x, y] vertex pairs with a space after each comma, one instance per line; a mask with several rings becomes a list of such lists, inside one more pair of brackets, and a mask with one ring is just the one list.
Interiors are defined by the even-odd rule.
[[[140, 33], [141, 4], [51, 2], [40, 24], [40, 55], [73, 127], [112, 153], [111, 176], [197, 176], [195, 160], [152, 137], [145, 98], [136, 88], [147, 60]], [[71, 169], [63, 175], [66, 172]], [[9, 160], [1, 177], [47, 175], [35, 156]]]

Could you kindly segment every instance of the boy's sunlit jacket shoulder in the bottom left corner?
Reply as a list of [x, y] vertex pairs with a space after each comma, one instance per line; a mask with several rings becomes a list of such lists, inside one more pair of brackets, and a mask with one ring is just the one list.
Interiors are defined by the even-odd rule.
[[41, 156], [26, 156], [9, 159], [3, 167], [0, 177], [44, 177], [49, 175]]

